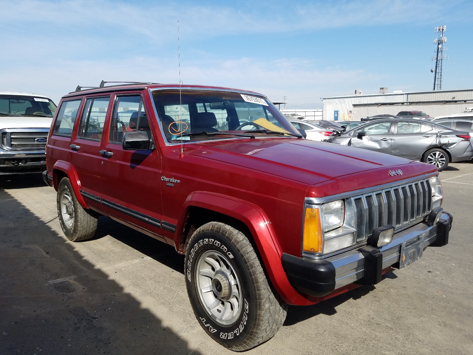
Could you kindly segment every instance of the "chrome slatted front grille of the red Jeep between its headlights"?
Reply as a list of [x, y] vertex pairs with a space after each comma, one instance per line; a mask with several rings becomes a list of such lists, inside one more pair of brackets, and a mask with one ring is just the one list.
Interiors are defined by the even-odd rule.
[[420, 222], [432, 208], [431, 195], [429, 179], [424, 179], [351, 197], [356, 240], [365, 240], [387, 224], [397, 230]]

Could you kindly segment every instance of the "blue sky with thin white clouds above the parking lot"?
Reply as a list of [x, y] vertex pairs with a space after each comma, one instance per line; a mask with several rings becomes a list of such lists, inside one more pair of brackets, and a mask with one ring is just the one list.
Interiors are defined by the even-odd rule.
[[322, 97], [431, 90], [434, 27], [446, 25], [442, 89], [473, 88], [473, 1], [0, 0], [0, 91], [56, 103], [101, 80], [249, 89], [286, 108]]

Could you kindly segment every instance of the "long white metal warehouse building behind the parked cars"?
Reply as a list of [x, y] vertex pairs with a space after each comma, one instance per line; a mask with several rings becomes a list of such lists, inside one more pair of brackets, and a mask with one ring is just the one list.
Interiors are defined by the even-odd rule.
[[473, 89], [359, 94], [322, 100], [324, 120], [334, 120], [338, 116], [339, 120], [359, 121], [362, 117], [396, 115], [399, 111], [423, 111], [436, 117], [458, 114], [466, 107], [473, 107]]

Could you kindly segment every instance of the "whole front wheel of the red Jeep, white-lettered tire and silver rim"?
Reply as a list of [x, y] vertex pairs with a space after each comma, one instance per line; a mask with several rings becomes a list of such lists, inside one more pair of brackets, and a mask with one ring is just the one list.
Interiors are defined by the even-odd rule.
[[286, 318], [250, 241], [225, 223], [204, 224], [187, 240], [184, 275], [201, 327], [230, 350], [271, 339]]

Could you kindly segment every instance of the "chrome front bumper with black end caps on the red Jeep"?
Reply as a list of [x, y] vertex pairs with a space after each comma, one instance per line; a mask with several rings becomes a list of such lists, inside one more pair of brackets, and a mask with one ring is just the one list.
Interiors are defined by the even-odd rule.
[[293, 286], [299, 292], [315, 297], [323, 297], [353, 283], [377, 284], [387, 267], [403, 267], [402, 250], [416, 245], [421, 255], [428, 246], [446, 245], [452, 220], [450, 213], [443, 212], [435, 225], [418, 223], [394, 234], [393, 241], [380, 248], [365, 246], [321, 260], [283, 253], [282, 263]]

